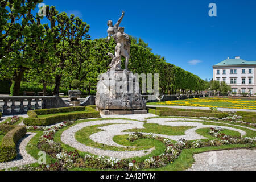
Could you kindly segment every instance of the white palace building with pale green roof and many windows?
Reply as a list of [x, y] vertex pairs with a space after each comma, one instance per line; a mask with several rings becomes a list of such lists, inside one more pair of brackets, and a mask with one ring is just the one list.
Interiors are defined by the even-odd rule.
[[256, 93], [256, 61], [246, 61], [235, 57], [213, 65], [213, 80], [224, 81], [232, 88], [232, 93]]

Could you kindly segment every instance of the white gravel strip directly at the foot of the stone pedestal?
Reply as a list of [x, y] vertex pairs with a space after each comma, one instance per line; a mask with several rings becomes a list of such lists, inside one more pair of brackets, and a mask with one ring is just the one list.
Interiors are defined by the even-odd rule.
[[102, 118], [127, 118], [127, 119], [136, 119], [138, 121], [144, 121], [146, 118], [156, 117], [155, 114], [113, 114], [113, 115], [104, 115], [101, 114]]

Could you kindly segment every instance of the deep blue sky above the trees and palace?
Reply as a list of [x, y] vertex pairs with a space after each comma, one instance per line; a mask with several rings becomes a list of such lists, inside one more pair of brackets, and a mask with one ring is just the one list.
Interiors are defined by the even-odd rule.
[[[44, 0], [47, 5], [79, 16], [90, 25], [92, 39], [106, 37], [106, 22], [142, 38], [152, 52], [162, 55], [200, 78], [212, 79], [212, 65], [226, 57], [256, 61], [255, 0], [92, 1]], [[210, 17], [209, 3], [216, 3], [217, 17]]]

